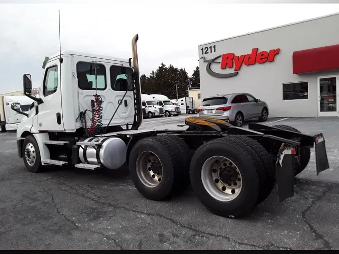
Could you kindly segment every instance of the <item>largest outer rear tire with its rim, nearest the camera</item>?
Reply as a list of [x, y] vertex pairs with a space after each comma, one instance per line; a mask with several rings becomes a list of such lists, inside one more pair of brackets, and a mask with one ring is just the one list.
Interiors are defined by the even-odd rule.
[[192, 157], [192, 188], [211, 212], [241, 217], [257, 204], [260, 168], [263, 165], [258, 155], [243, 141], [234, 137], [212, 140]]

